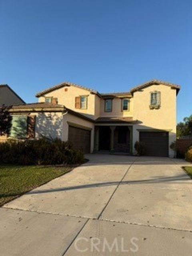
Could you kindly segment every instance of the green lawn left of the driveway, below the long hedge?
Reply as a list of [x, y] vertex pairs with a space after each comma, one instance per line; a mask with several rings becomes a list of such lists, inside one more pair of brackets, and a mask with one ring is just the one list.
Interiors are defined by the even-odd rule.
[[70, 167], [0, 166], [0, 206], [62, 174]]

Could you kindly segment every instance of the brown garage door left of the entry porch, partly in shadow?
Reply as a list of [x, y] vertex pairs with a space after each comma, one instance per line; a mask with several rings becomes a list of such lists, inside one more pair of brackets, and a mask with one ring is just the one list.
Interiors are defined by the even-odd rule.
[[72, 142], [74, 148], [90, 153], [90, 134], [89, 130], [69, 126], [68, 140]]

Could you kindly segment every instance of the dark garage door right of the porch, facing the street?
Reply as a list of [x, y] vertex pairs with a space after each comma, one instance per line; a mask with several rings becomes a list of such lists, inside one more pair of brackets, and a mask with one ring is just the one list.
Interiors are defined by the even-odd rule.
[[168, 156], [168, 132], [140, 132], [146, 156]]

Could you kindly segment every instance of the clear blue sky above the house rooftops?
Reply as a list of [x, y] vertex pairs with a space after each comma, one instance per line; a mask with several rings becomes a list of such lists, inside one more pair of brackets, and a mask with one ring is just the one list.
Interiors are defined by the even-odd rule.
[[182, 86], [192, 114], [191, 0], [0, 0], [0, 84], [26, 102], [70, 81], [128, 91], [152, 78]]

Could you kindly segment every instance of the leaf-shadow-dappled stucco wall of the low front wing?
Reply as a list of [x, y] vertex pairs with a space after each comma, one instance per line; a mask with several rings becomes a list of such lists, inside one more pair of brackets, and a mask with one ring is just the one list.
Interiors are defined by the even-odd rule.
[[36, 114], [35, 138], [62, 139], [62, 112], [44, 112]]

